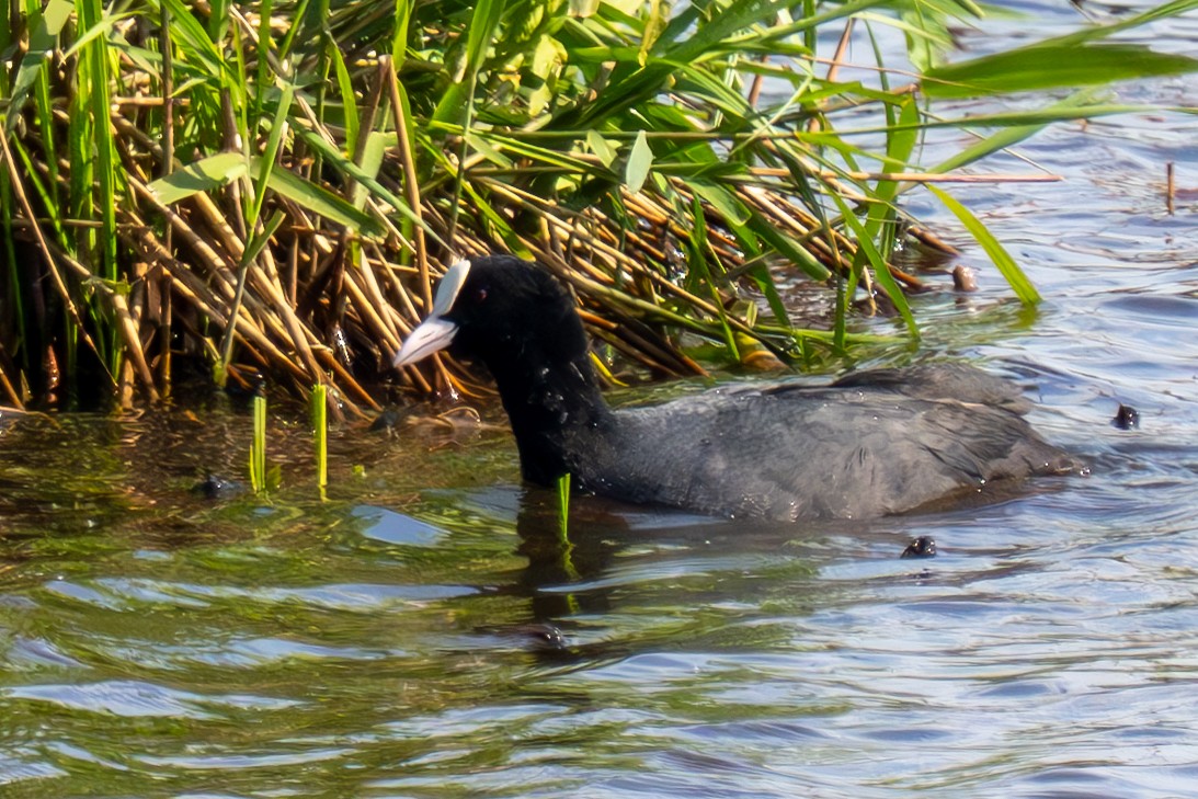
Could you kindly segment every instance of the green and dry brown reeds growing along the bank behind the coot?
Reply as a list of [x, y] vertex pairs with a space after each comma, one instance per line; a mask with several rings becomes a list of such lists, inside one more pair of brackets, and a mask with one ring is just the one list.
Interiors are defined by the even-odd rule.
[[[1192, 71], [1111, 37], [1196, 6], [945, 63], [950, 26], [984, 13], [972, 0], [13, 2], [0, 404], [157, 399], [186, 356], [218, 381], [323, 385], [334, 414], [363, 413], [436, 274], [489, 250], [553, 270], [594, 335], [659, 374], [698, 370], [679, 332], [730, 358], [843, 351], [853, 301], [878, 295], [918, 340], [919, 279], [893, 255], [934, 240], [901, 194], [1042, 177], [957, 170], [1053, 121], [1130, 110], [1072, 90]], [[909, 65], [884, 62], [884, 29]], [[849, 41], [873, 78], [848, 68]], [[934, 102], [1047, 89], [1070, 91], [968, 116]], [[944, 126], [973, 144], [920, 163]], [[780, 293], [798, 279], [827, 290], [818, 329]], [[452, 364], [406, 380], [471, 391]]]

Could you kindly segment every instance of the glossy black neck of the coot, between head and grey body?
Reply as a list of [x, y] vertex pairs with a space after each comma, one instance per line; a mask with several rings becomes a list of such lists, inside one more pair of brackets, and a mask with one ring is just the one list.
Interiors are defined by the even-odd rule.
[[577, 474], [594, 436], [612, 420], [589, 355], [521, 359], [509, 370], [491, 373], [512, 422], [525, 479], [552, 485], [565, 473]]

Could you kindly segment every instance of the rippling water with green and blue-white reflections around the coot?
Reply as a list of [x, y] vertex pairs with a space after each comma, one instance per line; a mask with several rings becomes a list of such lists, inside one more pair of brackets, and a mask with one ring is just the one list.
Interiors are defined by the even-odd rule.
[[[920, 297], [926, 353], [1031, 386], [1093, 465], [982, 508], [746, 527], [582, 500], [567, 553], [503, 434], [340, 431], [321, 503], [280, 414], [283, 491], [210, 502], [189, 486], [249, 438], [222, 398], [0, 420], [0, 795], [1194, 795], [1194, 141], [1180, 115], [1059, 126], [1021, 151], [1067, 182], [954, 189], [1046, 301], [992, 271]], [[939, 555], [900, 559], [915, 535]]]

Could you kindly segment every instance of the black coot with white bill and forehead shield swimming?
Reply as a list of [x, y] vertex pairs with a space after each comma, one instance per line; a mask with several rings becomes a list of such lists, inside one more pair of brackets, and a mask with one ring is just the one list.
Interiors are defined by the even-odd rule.
[[570, 295], [510, 255], [454, 264], [395, 365], [449, 347], [498, 385], [526, 480], [703, 514], [865, 519], [1077, 467], [1022, 418], [1019, 388], [961, 364], [830, 386], [715, 388], [612, 410]]

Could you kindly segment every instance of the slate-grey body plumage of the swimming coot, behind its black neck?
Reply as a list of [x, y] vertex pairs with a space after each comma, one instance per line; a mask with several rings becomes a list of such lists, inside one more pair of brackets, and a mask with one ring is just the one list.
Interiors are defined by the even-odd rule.
[[792, 521], [866, 519], [1073, 468], [1031, 430], [1025, 408], [1012, 383], [939, 364], [618, 410], [561, 446], [585, 490], [625, 502]]

